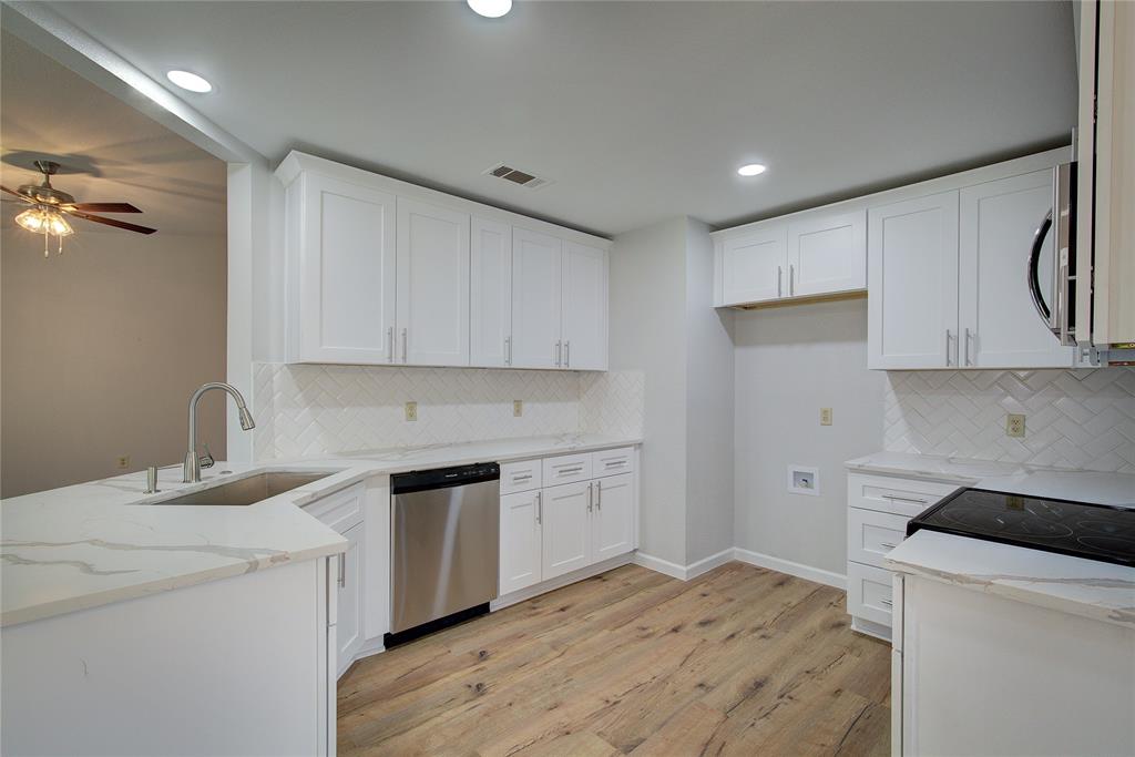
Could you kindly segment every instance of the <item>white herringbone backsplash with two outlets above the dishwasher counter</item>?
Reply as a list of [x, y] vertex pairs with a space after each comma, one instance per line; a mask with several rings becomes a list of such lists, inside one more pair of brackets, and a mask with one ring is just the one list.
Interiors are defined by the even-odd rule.
[[[253, 453], [269, 460], [581, 431], [638, 436], [642, 386], [638, 371], [258, 363]], [[524, 402], [519, 418], [513, 399]], [[417, 421], [405, 420], [410, 401]]]

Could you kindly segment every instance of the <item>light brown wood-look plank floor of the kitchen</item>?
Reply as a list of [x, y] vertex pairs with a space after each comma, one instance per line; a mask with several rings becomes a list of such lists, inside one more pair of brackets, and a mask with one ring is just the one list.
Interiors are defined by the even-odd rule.
[[882, 755], [890, 646], [843, 592], [636, 565], [356, 663], [339, 755]]

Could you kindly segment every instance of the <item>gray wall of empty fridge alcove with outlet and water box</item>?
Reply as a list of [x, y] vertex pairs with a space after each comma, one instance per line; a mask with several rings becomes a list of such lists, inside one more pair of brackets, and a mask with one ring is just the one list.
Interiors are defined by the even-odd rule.
[[[867, 370], [866, 311], [854, 300], [737, 313], [735, 546], [846, 572], [843, 461], [883, 448], [885, 373]], [[819, 469], [821, 496], [789, 494], [790, 464]]]

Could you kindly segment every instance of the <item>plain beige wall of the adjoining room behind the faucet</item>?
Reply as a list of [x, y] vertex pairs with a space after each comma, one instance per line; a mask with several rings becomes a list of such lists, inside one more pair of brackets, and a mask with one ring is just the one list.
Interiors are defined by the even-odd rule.
[[[222, 235], [76, 230], [49, 259], [40, 237], [2, 233], [5, 497], [179, 462], [190, 395], [225, 378]], [[224, 460], [210, 394], [197, 438]]]

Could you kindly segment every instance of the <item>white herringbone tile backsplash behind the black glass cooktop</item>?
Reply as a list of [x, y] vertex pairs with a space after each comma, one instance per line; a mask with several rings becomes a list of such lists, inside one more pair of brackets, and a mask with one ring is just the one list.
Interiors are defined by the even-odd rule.
[[884, 413], [890, 452], [1135, 473], [1135, 368], [888, 371]]

